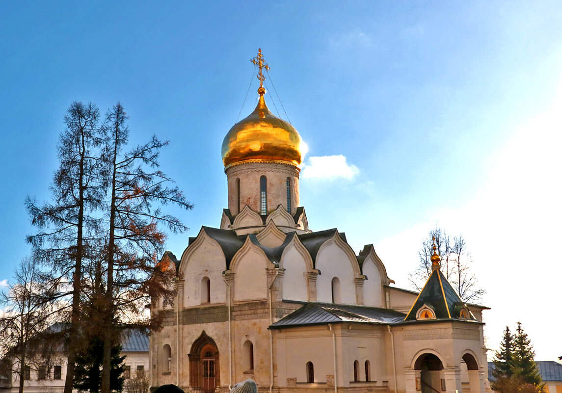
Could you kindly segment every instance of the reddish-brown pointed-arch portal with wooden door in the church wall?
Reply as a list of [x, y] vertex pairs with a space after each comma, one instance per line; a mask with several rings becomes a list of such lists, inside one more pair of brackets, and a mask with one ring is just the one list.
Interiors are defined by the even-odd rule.
[[203, 393], [215, 391], [219, 386], [219, 350], [215, 341], [203, 331], [189, 351], [189, 385]]

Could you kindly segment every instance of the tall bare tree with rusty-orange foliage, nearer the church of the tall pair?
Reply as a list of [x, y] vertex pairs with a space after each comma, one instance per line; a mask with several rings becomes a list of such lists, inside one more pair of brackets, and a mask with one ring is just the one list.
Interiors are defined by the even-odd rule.
[[104, 330], [102, 393], [110, 391], [111, 348], [121, 328], [150, 326], [144, 305], [163, 298], [171, 304], [175, 291], [170, 285], [175, 269], [158, 259], [164, 252], [166, 235], [158, 225], [173, 232], [187, 230], [178, 218], [162, 212], [160, 206], [173, 203], [185, 209], [191, 205], [172, 181], [158, 170], [158, 154], [167, 145], [152, 139], [123, 152], [129, 129], [121, 103], [106, 116], [105, 162], [109, 203], [107, 205], [107, 290]]

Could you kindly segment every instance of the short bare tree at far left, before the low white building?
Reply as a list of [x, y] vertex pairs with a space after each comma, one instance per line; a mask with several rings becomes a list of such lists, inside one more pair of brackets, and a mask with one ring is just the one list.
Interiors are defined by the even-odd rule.
[[0, 342], [2, 358], [19, 379], [22, 393], [31, 369], [47, 367], [52, 359], [51, 341], [44, 339], [58, 307], [52, 301], [53, 286], [42, 282], [42, 274], [33, 259], [22, 259], [14, 276], [13, 284], [2, 293]]

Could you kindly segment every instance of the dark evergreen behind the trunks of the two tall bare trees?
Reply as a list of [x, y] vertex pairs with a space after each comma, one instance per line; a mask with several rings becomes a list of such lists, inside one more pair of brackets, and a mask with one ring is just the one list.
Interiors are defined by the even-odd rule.
[[[121, 345], [111, 348], [111, 371], [110, 371], [110, 390], [112, 392], [123, 391], [125, 378], [123, 372], [125, 357], [120, 356]], [[99, 336], [90, 339], [87, 350], [81, 352], [76, 357], [74, 368], [74, 387], [80, 392], [89, 391], [97, 393], [101, 387], [101, 368], [103, 360], [103, 340]]]

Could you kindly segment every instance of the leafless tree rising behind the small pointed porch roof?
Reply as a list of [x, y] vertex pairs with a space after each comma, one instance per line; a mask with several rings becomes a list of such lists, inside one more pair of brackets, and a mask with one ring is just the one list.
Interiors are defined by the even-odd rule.
[[422, 249], [418, 252], [420, 263], [414, 273], [410, 273], [410, 284], [420, 291], [431, 275], [433, 242], [441, 257], [441, 271], [460, 298], [472, 302], [481, 300], [486, 291], [478, 287], [477, 277], [470, 269], [472, 257], [466, 250], [463, 235], [454, 236], [451, 239], [445, 230], [437, 226], [429, 231], [428, 236], [422, 242]]

